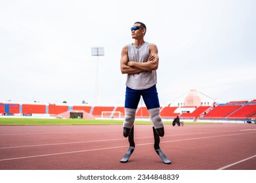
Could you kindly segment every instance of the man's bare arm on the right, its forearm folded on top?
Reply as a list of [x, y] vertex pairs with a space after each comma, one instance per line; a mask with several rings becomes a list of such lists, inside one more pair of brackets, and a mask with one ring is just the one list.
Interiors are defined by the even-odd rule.
[[128, 61], [127, 65], [130, 67], [142, 69], [143, 71], [154, 71], [158, 69], [158, 47], [156, 44], [150, 44], [149, 46], [150, 56], [147, 62], [135, 62], [135, 61]]

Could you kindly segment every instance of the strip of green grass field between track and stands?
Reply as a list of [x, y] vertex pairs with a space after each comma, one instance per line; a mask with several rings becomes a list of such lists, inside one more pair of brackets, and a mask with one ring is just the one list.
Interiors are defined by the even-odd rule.
[[[82, 119], [39, 119], [39, 118], [0, 118], [0, 125], [120, 125], [123, 120], [82, 120]], [[135, 121], [135, 124], [152, 124], [150, 121]], [[165, 122], [171, 124], [171, 122]], [[213, 124], [184, 122], [184, 124]]]

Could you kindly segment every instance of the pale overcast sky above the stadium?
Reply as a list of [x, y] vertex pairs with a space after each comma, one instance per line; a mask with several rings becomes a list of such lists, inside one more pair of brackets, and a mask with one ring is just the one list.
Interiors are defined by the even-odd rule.
[[[253, 0], [0, 0], [0, 102], [123, 106], [121, 48], [137, 21], [158, 46], [161, 106], [192, 89], [256, 99], [255, 9]], [[105, 56], [91, 56], [93, 46]]]

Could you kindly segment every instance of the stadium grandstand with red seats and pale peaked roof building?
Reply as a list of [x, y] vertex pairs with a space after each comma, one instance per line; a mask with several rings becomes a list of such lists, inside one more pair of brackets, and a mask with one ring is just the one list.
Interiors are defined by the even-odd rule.
[[[122, 106], [69, 105], [62, 103], [0, 103], [0, 117], [24, 118], [111, 118], [122, 119], [125, 108]], [[181, 120], [191, 122], [246, 122], [256, 118], [256, 99], [228, 101], [220, 103], [196, 90], [190, 90], [181, 97], [161, 107], [163, 120]], [[136, 118], [149, 120], [150, 115], [144, 106], [139, 106]]]

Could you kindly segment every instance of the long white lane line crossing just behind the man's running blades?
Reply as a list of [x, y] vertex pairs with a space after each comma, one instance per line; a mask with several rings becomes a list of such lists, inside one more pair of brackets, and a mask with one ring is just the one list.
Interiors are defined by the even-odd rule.
[[[251, 132], [253, 133], [253, 132]], [[254, 132], [256, 133], [256, 132]], [[210, 137], [198, 137], [198, 138], [192, 138], [192, 139], [180, 139], [175, 141], [163, 141], [161, 143], [168, 143], [168, 142], [181, 142], [181, 141], [193, 141], [193, 140], [200, 140], [200, 139], [211, 139], [211, 138], [217, 138], [217, 137], [228, 137], [232, 135], [244, 135], [245, 133], [236, 133], [236, 134], [230, 134], [230, 135], [217, 135], [217, 136], [210, 136]], [[248, 134], [248, 133], [246, 133]], [[153, 142], [150, 143], [144, 143], [144, 144], [136, 144], [136, 146], [145, 146], [149, 144], [154, 144]], [[24, 157], [18, 157], [18, 158], [7, 158], [7, 159], [0, 159], [0, 161], [8, 161], [8, 160], [14, 160], [14, 159], [26, 159], [26, 158], [36, 158], [36, 157], [43, 157], [43, 156], [54, 156], [54, 155], [62, 155], [62, 154], [74, 154], [79, 152], [90, 152], [90, 151], [96, 151], [96, 150], [108, 150], [108, 149], [114, 149], [114, 148], [127, 148], [126, 146], [114, 146], [114, 147], [108, 147], [108, 148], [96, 148], [96, 149], [89, 149], [89, 150], [78, 150], [78, 151], [71, 151], [71, 152], [59, 152], [54, 154], [41, 154], [36, 156], [24, 156]]]

